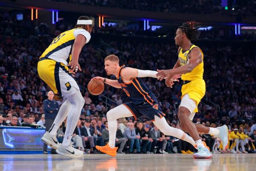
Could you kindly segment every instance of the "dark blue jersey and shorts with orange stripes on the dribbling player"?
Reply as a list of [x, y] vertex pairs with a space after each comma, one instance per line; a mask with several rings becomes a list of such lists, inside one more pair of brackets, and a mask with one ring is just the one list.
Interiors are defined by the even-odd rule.
[[131, 102], [124, 103], [133, 114], [135, 120], [141, 116], [148, 117], [154, 122], [154, 116], [164, 117], [162, 109], [158, 105], [157, 97], [149, 90], [147, 85], [139, 77], [134, 78], [129, 83], [124, 82], [122, 78], [122, 70], [126, 67], [121, 67], [118, 71], [117, 81], [130, 98]]

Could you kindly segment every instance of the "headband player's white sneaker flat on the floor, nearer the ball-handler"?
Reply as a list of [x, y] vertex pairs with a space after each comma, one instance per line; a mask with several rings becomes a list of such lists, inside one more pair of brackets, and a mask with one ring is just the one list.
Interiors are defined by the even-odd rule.
[[58, 147], [56, 152], [60, 155], [72, 157], [72, 158], [79, 158], [84, 155], [84, 152], [78, 150], [72, 146], [72, 143], [68, 147], [64, 147], [62, 144]]

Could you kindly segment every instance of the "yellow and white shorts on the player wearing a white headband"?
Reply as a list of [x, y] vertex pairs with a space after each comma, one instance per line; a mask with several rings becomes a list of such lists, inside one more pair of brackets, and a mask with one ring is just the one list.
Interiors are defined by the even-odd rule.
[[76, 89], [79, 90], [72, 74], [63, 63], [49, 58], [41, 58], [38, 62], [38, 74], [55, 94], [70, 96], [76, 93]]

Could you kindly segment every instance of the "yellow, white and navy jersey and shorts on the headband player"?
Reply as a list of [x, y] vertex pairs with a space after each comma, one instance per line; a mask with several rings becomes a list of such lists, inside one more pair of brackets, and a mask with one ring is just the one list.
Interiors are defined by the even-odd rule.
[[55, 94], [67, 97], [76, 93], [76, 89], [79, 90], [67, 67], [72, 60], [73, 43], [79, 34], [86, 37], [86, 43], [89, 42], [89, 32], [83, 28], [74, 28], [58, 35], [40, 56], [38, 75]]

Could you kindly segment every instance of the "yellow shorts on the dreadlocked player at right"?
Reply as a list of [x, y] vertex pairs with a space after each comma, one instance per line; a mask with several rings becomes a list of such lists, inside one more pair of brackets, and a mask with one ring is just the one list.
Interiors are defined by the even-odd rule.
[[198, 112], [198, 104], [200, 103], [201, 99], [204, 97], [205, 89], [206, 89], [205, 82], [203, 79], [190, 81], [189, 83], [182, 85], [181, 99], [185, 94], [188, 94], [189, 98], [194, 100], [196, 103], [196, 108], [194, 112]]

